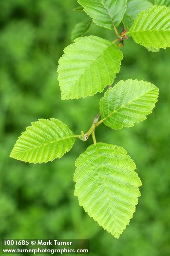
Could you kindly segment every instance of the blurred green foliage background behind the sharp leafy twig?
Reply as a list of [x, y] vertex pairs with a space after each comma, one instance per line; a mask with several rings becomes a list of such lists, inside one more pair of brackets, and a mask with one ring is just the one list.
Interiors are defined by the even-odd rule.
[[[160, 89], [152, 115], [133, 128], [96, 129], [97, 141], [126, 148], [143, 182], [137, 211], [116, 240], [79, 207], [74, 197], [75, 160], [92, 143], [76, 141], [60, 160], [26, 164], [10, 159], [13, 145], [38, 118], [55, 117], [76, 134], [98, 113], [96, 94], [62, 101], [57, 61], [85, 13], [76, 0], [0, 0], [0, 237], [89, 238], [92, 256], [170, 256], [170, 49], [149, 53], [126, 40], [116, 81], [129, 78]], [[120, 26], [119, 31], [121, 32]], [[113, 40], [113, 31], [88, 34]]]

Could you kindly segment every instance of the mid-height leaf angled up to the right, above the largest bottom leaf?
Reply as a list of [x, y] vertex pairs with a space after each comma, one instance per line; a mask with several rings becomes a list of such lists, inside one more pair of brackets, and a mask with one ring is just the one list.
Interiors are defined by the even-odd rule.
[[148, 82], [126, 80], [107, 90], [100, 101], [101, 118], [112, 129], [132, 127], [151, 114], [159, 89]]

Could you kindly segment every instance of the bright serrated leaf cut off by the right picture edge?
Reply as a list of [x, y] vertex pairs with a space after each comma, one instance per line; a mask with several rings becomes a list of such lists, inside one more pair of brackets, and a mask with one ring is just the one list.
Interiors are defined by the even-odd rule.
[[139, 13], [129, 34], [145, 47], [170, 47], [170, 8], [153, 6]]

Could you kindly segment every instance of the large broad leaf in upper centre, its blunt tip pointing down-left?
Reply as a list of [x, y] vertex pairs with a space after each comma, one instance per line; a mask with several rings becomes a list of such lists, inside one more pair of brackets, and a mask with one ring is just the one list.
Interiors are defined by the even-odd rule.
[[113, 83], [123, 58], [117, 45], [97, 36], [77, 38], [64, 53], [57, 70], [62, 100], [102, 92]]

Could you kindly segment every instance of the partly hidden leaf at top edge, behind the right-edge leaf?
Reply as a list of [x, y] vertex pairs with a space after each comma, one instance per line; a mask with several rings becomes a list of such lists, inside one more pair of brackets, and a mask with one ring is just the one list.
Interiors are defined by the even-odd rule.
[[126, 13], [123, 17], [123, 24], [125, 28], [130, 28], [133, 24], [133, 21], [143, 10], [148, 9], [151, 7], [151, 2], [147, 0], [128, 0], [127, 1], [127, 8]]

